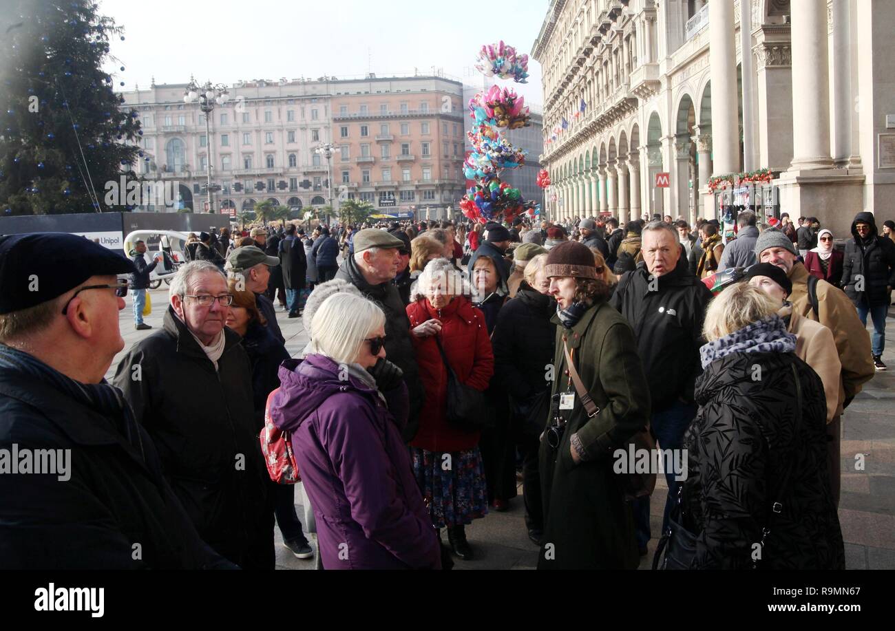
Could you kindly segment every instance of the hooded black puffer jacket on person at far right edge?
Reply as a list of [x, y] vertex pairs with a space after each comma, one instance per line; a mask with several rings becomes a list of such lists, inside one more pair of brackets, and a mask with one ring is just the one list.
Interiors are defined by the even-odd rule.
[[[870, 225], [870, 234], [861, 239], [855, 225]], [[895, 286], [895, 243], [876, 231], [874, 214], [859, 212], [851, 222], [854, 238], [845, 244], [842, 260], [842, 289], [855, 306], [889, 304], [887, 286]], [[863, 283], [861, 282], [863, 278]], [[862, 288], [862, 291], [858, 291]]]

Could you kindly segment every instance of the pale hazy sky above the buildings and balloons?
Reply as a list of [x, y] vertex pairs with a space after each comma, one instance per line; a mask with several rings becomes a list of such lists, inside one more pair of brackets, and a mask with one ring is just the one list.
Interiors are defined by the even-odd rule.
[[[432, 66], [464, 82], [481, 81], [473, 67], [482, 44], [503, 39], [531, 53], [548, 0], [509, 5], [418, 0], [99, 0], [100, 11], [124, 26], [111, 54], [120, 63], [115, 90], [157, 83], [323, 74], [339, 78], [430, 73]], [[494, 7], [499, 14], [482, 11]], [[124, 65], [124, 72], [119, 67]], [[529, 62], [527, 84], [515, 84], [540, 107], [541, 66]], [[119, 85], [124, 81], [124, 88]], [[511, 84], [512, 81], [501, 81]], [[478, 83], [475, 83], [478, 84]]]

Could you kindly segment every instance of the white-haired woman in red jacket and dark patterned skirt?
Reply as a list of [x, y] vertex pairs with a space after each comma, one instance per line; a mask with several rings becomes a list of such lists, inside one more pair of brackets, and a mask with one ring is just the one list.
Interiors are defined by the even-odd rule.
[[411, 288], [407, 305], [413, 349], [426, 392], [427, 414], [410, 443], [413, 473], [429, 502], [431, 523], [447, 528], [451, 549], [472, 559], [465, 525], [488, 512], [481, 431], [447, 419], [448, 372], [483, 392], [494, 374], [485, 317], [470, 303], [471, 288], [449, 260], [431, 260]]

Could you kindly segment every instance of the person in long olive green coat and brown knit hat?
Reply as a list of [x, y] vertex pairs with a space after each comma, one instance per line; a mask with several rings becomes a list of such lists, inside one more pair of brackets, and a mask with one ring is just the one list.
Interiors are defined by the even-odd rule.
[[[626, 448], [650, 416], [634, 333], [606, 303], [609, 286], [598, 277], [584, 245], [568, 242], [553, 248], [546, 271], [558, 303], [553, 316], [557, 351], [554, 403], [541, 436], [545, 524], [538, 568], [634, 569], [639, 563], [634, 519], [619, 474], [613, 473], [615, 450]], [[564, 345], [600, 408], [592, 418], [568, 374]], [[566, 395], [563, 405], [559, 395]], [[571, 409], [558, 409], [570, 404]], [[558, 441], [550, 429], [555, 417], [566, 422]]]

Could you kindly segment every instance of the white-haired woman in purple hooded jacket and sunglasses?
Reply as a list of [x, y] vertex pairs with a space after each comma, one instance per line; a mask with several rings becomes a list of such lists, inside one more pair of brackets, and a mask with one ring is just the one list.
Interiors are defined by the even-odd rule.
[[[330, 295], [311, 320], [311, 352], [283, 362], [282, 386], [268, 401], [271, 421], [292, 434], [327, 569], [441, 567], [439, 539], [401, 439], [402, 373], [370, 373], [384, 361], [384, 343], [379, 306]], [[397, 418], [387, 404], [395, 390], [405, 400]]]

